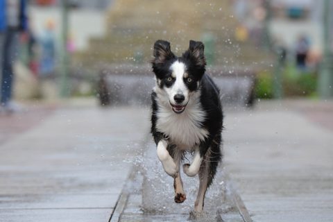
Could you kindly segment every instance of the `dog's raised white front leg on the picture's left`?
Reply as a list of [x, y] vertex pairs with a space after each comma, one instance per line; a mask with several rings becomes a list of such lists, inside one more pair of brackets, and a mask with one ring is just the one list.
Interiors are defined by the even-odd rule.
[[160, 142], [157, 144], [157, 157], [162, 162], [164, 171], [176, 178], [178, 176], [178, 168], [173, 161], [173, 158], [167, 151], [168, 142], [164, 139], [161, 139]]

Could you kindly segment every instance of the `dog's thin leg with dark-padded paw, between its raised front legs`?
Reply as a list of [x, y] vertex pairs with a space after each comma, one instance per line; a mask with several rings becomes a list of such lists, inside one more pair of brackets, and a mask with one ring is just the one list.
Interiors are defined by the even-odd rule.
[[[174, 151], [173, 152], [173, 160], [175, 160], [177, 168], [179, 169], [180, 162], [182, 161], [182, 151]], [[180, 177], [180, 171], [178, 171], [178, 174], [176, 178], [173, 180], [173, 187], [175, 188], [175, 202], [176, 203], [182, 203], [186, 200], [186, 194], [184, 189], [182, 188], [182, 178]]]

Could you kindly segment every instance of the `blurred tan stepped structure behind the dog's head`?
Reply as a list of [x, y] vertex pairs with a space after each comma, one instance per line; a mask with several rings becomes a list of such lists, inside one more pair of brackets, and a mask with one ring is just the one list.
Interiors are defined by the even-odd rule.
[[108, 12], [106, 30], [102, 38], [92, 38], [87, 51], [76, 54], [78, 64], [146, 64], [159, 39], [169, 40], [178, 55], [188, 48], [189, 40], [201, 40], [208, 63], [231, 70], [269, 60], [248, 40], [247, 30], [234, 18], [230, 1], [118, 0]]

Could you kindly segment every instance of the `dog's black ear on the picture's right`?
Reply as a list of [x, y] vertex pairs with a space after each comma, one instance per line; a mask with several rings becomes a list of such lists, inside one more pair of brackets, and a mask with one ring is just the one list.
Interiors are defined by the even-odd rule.
[[205, 67], [206, 59], [204, 55], [205, 46], [203, 42], [196, 42], [194, 40], [189, 40], [189, 49], [185, 53], [191, 62], [194, 62], [196, 67]]

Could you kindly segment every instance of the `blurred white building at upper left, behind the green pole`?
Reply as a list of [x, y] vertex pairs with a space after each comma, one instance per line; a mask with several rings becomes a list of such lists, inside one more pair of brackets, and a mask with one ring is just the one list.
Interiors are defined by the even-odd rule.
[[[69, 5], [69, 36], [75, 43], [75, 50], [84, 50], [91, 37], [105, 33], [105, 12], [114, 0], [71, 0]], [[53, 20], [57, 44], [61, 36], [61, 0], [31, 1], [29, 17], [37, 37], [43, 35], [46, 21]]]

